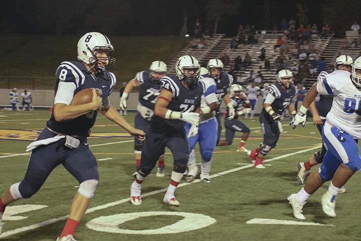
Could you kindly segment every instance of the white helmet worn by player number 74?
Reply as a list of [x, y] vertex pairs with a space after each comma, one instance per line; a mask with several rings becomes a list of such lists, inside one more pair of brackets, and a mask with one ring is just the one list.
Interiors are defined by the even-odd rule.
[[[200, 68], [201, 66], [195, 57], [184, 55], [175, 64], [175, 73], [181, 81], [185, 81], [192, 88], [198, 81]], [[193, 72], [191, 72], [192, 70]]]

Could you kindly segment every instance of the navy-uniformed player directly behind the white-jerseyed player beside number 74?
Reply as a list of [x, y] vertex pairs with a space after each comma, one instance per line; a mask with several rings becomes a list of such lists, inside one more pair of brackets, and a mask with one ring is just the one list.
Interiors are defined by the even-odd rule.
[[218, 123], [218, 133], [217, 133], [217, 144], [220, 140], [220, 134], [222, 132], [222, 123], [221, 116], [222, 113], [219, 110], [219, 106], [224, 100], [224, 103], [227, 105], [230, 111], [230, 115], [235, 115], [235, 109], [231, 103], [229, 89], [233, 83], [233, 77], [231, 74], [228, 74], [223, 71], [223, 63], [219, 59], [210, 59], [207, 63], [208, 74], [203, 75], [204, 77], [211, 77], [214, 79], [215, 84], [217, 85], [216, 95], [218, 99], [218, 109], [216, 111], [216, 119]]

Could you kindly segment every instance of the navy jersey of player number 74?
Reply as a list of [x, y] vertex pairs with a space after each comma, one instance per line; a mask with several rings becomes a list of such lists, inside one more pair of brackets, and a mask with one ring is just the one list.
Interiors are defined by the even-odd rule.
[[[187, 89], [176, 76], [164, 76], [160, 79], [162, 89], [166, 89], [173, 94], [173, 98], [168, 104], [168, 109], [180, 112], [192, 112], [201, 101], [202, 95], [206, 92], [202, 81], [197, 83], [193, 90]], [[176, 131], [184, 127], [186, 123], [179, 119], [164, 119], [154, 116], [151, 126], [164, 131]]]

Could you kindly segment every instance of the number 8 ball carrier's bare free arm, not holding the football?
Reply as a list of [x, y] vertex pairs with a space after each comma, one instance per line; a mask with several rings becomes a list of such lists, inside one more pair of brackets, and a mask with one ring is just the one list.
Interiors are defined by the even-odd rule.
[[105, 117], [107, 117], [107, 119], [111, 120], [112, 122], [123, 128], [130, 135], [138, 136], [141, 141], [145, 139], [144, 132], [130, 126], [130, 124], [119, 114], [119, 112], [114, 108], [114, 106], [110, 105], [107, 108], [103, 108], [101, 112]]

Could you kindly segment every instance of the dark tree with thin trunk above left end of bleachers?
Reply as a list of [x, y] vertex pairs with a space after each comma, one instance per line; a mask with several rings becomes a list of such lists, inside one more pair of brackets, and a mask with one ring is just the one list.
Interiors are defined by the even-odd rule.
[[218, 23], [223, 18], [240, 14], [239, 7], [237, 0], [206, 0], [207, 18], [214, 21], [213, 34], [217, 33]]

